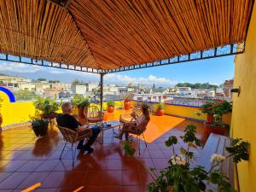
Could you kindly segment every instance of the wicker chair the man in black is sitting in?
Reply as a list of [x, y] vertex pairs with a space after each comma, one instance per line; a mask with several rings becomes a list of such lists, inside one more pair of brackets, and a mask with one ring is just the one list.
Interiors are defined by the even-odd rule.
[[[61, 151], [61, 156], [63, 154], [64, 149], [66, 148], [67, 143], [71, 143], [71, 151], [72, 151], [72, 165], [74, 166], [74, 159], [76, 155], [76, 149], [77, 149], [77, 143], [79, 143], [80, 140], [85, 139], [87, 137], [92, 136], [91, 129], [88, 129], [88, 134], [83, 134], [82, 136], [79, 136], [79, 132], [73, 131], [71, 129], [68, 129], [67, 127], [59, 126], [57, 125], [59, 130], [61, 131], [61, 135], [63, 136], [63, 139], [65, 141], [64, 147]], [[75, 144], [74, 152], [73, 152], [73, 146]], [[61, 160], [60, 156], [60, 160]]]

